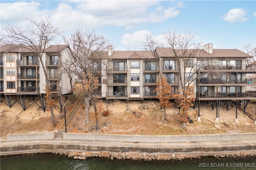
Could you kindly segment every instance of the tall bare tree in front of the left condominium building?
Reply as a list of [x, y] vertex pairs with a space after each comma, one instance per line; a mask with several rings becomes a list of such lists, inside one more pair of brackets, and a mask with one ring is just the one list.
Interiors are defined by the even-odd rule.
[[[41, 18], [40, 20], [27, 19], [30, 25], [27, 28], [21, 28], [8, 24], [4, 29], [5, 34], [2, 36], [5, 44], [16, 44], [15, 47], [27, 48], [33, 53], [36, 53], [40, 59], [42, 69], [46, 78], [46, 87], [49, 87], [49, 78], [46, 72], [46, 67], [43, 61], [43, 55], [47, 45], [56, 40], [62, 32], [59, 28], [53, 25], [53, 21], [49, 18]], [[51, 99], [51, 95], [49, 95]], [[53, 118], [53, 109], [51, 117]], [[54, 123], [54, 120], [52, 120]], [[55, 123], [54, 123], [55, 125]]]

